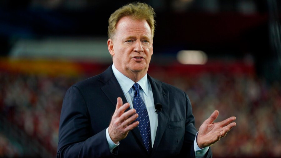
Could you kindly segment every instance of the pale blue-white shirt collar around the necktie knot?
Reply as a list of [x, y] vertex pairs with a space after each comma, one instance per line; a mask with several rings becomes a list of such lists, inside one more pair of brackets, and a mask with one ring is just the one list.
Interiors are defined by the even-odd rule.
[[[114, 76], [116, 77], [118, 83], [121, 86], [121, 89], [123, 90], [124, 94], [126, 95], [128, 91], [132, 88], [132, 86], [135, 84], [134, 81], [132, 81], [130, 78], [123, 75], [120, 71], [118, 71], [114, 64], [112, 64], [112, 71]], [[145, 95], [148, 96], [148, 80], [147, 80], [147, 74], [145, 74], [144, 77], [141, 78], [140, 81], [137, 82], [141, 89], [144, 91]]]

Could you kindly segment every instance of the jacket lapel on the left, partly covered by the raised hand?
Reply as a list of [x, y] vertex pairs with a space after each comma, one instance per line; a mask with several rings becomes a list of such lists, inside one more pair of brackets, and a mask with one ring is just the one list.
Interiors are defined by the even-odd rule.
[[[113, 74], [111, 66], [105, 72], [103, 72], [101, 74], [101, 77], [99, 78], [99, 80], [104, 83], [104, 86], [101, 87], [101, 90], [105, 93], [107, 98], [111, 101], [114, 108], [116, 108], [117, 97], [122, 98], [123, 104], [128, 102], [121, 89], [121, 86], [119, 85], [116, 77]], [[130, 110], [130, 108], [128, 108], [126, 111], [128, 111], [128, 110]], [[131, 132], [135, 136], [135, 138], [142, 144], [142, 146], [145, 150], [145, 145], [142, 141], [141, 133], [138, 130], [138, 128], [134, 128]]]

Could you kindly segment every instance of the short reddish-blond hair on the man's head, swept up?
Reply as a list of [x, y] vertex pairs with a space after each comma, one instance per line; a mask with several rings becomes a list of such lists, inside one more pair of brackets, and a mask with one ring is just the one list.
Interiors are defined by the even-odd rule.
[[135, 20], [146, 20], [151, 29], [151, 37], [153, 39], [155, 30], [155, 12], [154, 9], [146, 3], [129, 3], [117, 9], [108, 19], [107, 35], [109, 39], [113, 39], [116, 31], [116, 24], [122, 18], [129, 16]]

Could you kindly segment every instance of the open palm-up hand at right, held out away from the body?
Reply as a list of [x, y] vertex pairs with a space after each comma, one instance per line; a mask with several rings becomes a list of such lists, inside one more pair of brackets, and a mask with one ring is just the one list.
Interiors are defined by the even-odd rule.
[[232, 116], [221, 122], [214, 123], [214, 120], [219, 116], [219, 111], [215, 110], [212, 115], [203, 122], [199, 128], [197, 135], [197, 145], [202, 149], [219, 141], [220, 138], [226, 136], [236, 123], [233, 122], [236, 117]]

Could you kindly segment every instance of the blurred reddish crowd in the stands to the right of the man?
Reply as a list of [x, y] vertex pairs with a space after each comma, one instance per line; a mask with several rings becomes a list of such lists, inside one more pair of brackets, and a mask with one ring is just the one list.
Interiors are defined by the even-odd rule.
[[280, 82], [270, 85], [247, 75], [202, 74], [178, 78], [174, 85], [189, 95], [197, 129], [214, 110], [219, 110], [216, 121], [236, 116], [237, 126], [212, 147], [214, 156], [281, 156]]

